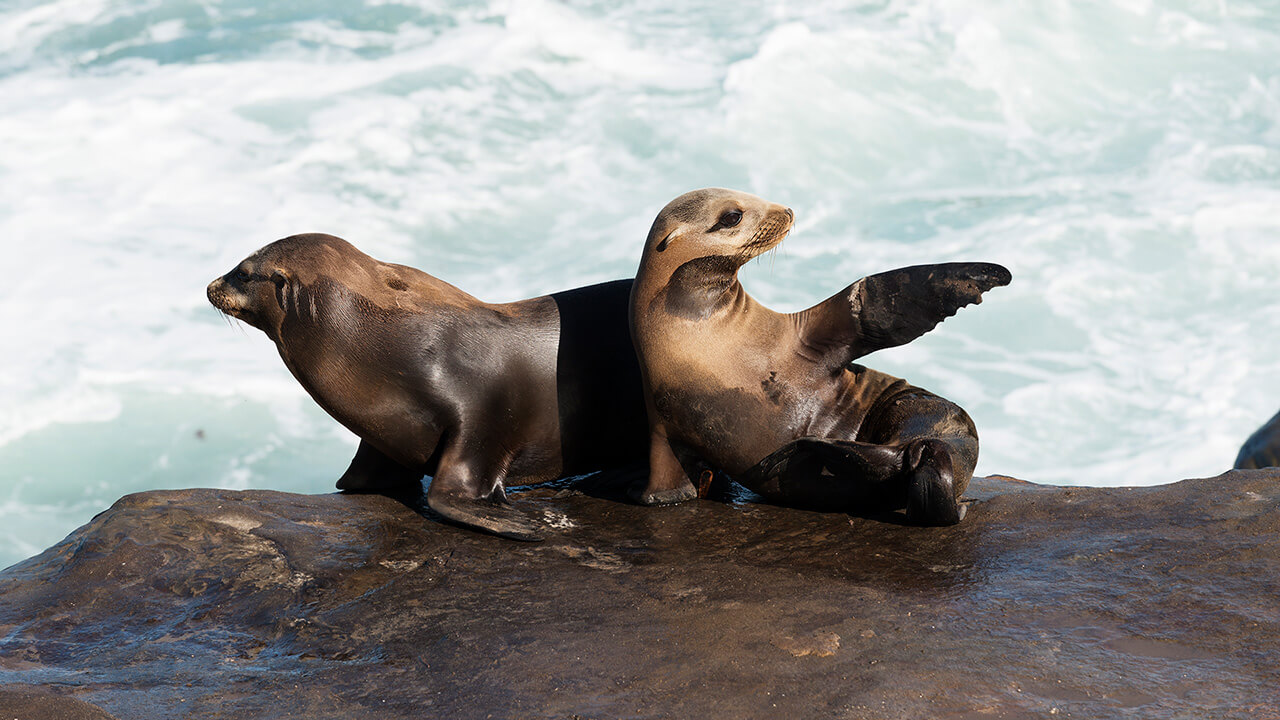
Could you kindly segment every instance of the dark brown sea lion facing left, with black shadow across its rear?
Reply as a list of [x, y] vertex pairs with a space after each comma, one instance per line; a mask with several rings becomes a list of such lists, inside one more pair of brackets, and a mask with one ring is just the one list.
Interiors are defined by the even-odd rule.
[[328, 234], [273, 242], [209, 284], [360, 436], [339, 488], [431, 475], [431, 510], [525, 541], [538, 525], [506, 486], [644, 462], [630, 292], [614, 281], [492, 305]]

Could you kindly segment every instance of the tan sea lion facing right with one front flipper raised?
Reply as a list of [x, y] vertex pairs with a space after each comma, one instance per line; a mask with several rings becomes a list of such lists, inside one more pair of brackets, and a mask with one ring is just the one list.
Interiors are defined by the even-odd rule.
[[631, 291], [631, 331], [649, 415], [639, 500], [696, 496], [710, 466], [769, 500], [826, 509], [906, 507], [954, 524], [978, 460], [955, 404], [852, 361], [924, 334], [1010, 273], [987, 263], [863, 278], [808, 310], [780, 314], [737, 270], [791, 231], [788, 208], [699, 190], [653, 223]]

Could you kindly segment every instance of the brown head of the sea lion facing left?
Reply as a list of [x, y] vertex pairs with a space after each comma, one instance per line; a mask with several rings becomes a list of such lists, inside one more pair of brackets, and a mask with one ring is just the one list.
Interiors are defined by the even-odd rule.
[[378, 261], [332, 234], [296, 234], [278, 240], [209, 283], [209, 301], [228, 315], [280, 341], [289, 315], [316, 315], [317, 286], [325, 278], [344, 283], [376, 273]]

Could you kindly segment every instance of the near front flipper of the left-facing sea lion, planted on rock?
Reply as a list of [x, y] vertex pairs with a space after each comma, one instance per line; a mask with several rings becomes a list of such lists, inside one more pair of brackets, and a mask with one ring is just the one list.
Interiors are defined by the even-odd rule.
[[543, 539], [543, 527], [507, 502], [502, 489], [506, 459], [492, 452], [493, 446], [468, 451], [461, 443], [447, 450], [431, 478], [426, 505], [460, 525], [511, 539]]

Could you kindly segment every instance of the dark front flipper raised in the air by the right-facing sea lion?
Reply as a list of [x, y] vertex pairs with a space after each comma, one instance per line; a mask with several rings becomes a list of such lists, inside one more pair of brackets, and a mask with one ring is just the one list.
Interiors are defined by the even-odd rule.
[[906, 345], [1012, 275], [992, 263], [914, 265], [865, 277], [795, 315], [801, 351], [832, 368]]

